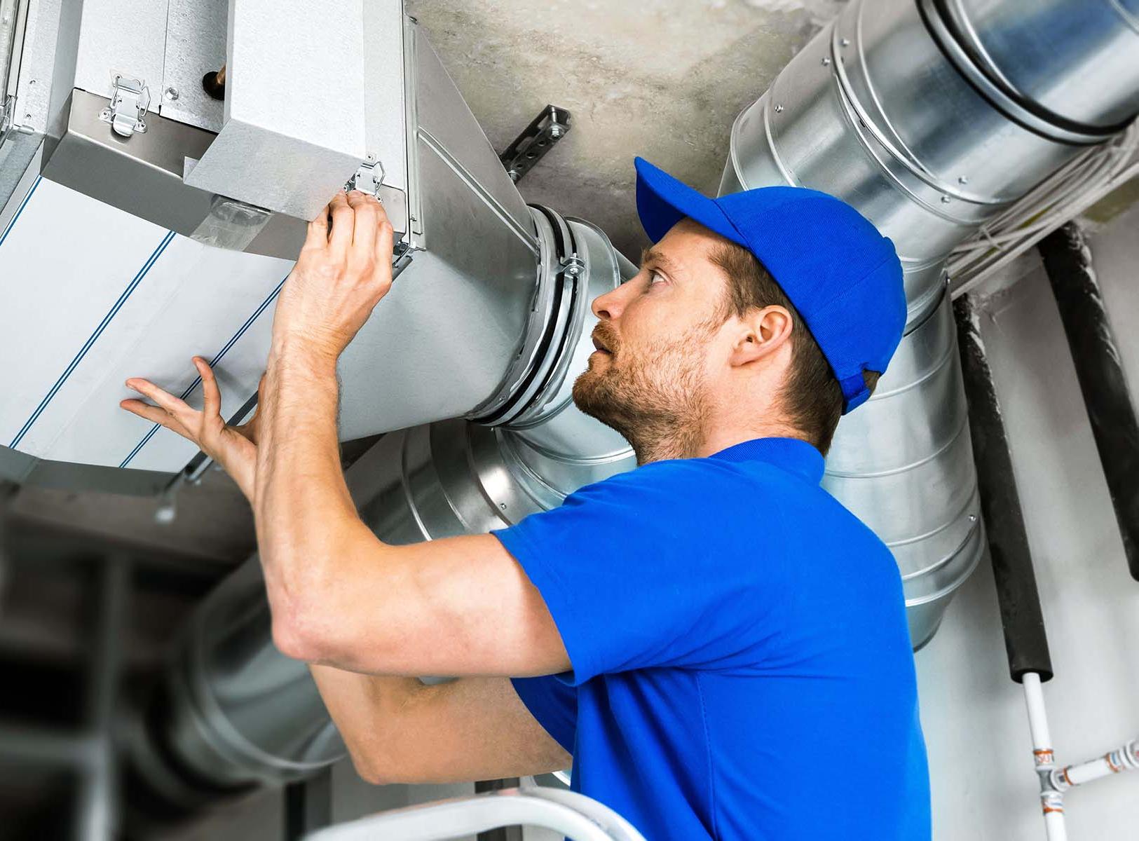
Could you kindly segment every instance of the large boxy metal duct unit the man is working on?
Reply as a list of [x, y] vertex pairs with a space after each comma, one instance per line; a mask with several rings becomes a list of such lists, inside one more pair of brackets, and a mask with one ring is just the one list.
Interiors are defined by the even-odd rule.
[[[371, 179], [402, 243], [393, 291], [339, 364], [345, 440], [450, 417], [503, 423], [560, 382], [589, 303], [580, 261], [525, 205], [400, 0], [231, 0], [228, 25], [226, 6], [15, 2], [0, 277], [38, 283], [2, 287], [0, 356], [21, 364], [0, 377], [0, 476], [169, 482], [195, 448], [118, 410], [123, 379], [192, 402], [200, 353], [216, 360], [227, 410], [246, 405], [303, 240], [289, 214], [350, 177]], [[222, 62], [224, 109], [200, 90]], [[149, 106], [123, 74], [148, 80]], [[124, 108], [145, 131], [118, 131]]]

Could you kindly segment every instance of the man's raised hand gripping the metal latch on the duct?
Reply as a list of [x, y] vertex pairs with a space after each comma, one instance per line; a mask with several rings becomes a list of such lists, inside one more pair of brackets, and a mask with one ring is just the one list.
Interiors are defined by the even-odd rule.
[[392, 287], [393, 230], [375, 196], [338, 193], [309, 223], [273, 315], [273, 350], [339, 357]]

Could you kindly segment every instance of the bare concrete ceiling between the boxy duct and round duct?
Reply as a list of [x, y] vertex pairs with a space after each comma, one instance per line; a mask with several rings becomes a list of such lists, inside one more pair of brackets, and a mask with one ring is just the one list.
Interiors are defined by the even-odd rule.
[[736, 115], [842, 3], [407, 0], [407, 8], [495, 149], [547, 104], [571, 112], [571, 132], [519, 188], [528, 202], [601, 226], [636, 256], [645, 239], [633, 156], [714, 193]]

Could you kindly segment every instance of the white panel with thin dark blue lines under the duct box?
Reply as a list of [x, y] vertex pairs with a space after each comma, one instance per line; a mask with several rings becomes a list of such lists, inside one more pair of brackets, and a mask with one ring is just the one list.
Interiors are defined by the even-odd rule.
[[40, 458], [181, 470], [197, 449], [118, 401], [142, 376], [222, 413], [256, 392], [292, 263], [224, 251], [38, 178], [0, 232], [0, 444]]

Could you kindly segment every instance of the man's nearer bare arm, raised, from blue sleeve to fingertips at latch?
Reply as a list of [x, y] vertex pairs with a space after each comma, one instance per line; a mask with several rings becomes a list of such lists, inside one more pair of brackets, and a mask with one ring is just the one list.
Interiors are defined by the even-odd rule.
[[546, 603], [495, 538], [387, 546], [357, 515], [336, 360], [391, 286], [392, 227], [362, 194], [329, 206], [330, 229], [310, 224], [277, 305], [260, 406], [254, 514], [278, 646], [383, 675], [570, 668]]

